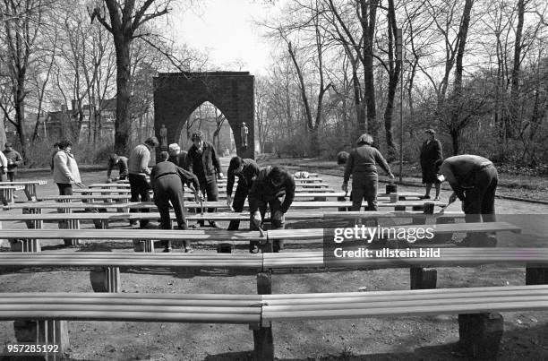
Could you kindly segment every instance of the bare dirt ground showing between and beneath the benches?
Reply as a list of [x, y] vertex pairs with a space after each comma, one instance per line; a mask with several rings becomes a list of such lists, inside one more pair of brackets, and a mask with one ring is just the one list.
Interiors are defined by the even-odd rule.
[[[83, 173], [83, 182], [97, 183], [105, 172]], [[32, 175], [30, 178], [50, 176]], [[339, 176], [324, 175], [338, 189]], [[406, 188], [404, 188], [406, 189]], [[417, 192], [416, 188], [407, 190]], [[55, 194], [50, 182], [39, 193]], [[21, 198], [24, 195], [19, 193]], [[447, 200], [449, 192], [442, 193]], [[21, 198], [19, 200], [21, 200]], [[458, 211], [454, 204], [449, 211]], [[497, 200], [497, 211], [548, 213], [542, 204]], [[17, 211], [9, 211], [17, 212]], [[126, 223], [116, 228], [130, 227]], [[293, 227], [301, 227], [299, 223]], [[314, 224], [308, 225], [313, 227]], [[56, 228], [47, 223], [46, 228]], [[92, 228], [92, 224], [83, 224]], [[111, 226], [112, 227], [112, 226]], [[288, 227], [292, 227], [288, 225]], [[317, 223], [316, 223], [317, 227]], [[18, 222], [4, 222], [4, 228], [25, 228]], [[1, 235], [1, 230], [0, 230]], [[0, 236], [1, 237], [1, 236]], [[43, 242], [44, 249], [61, 249], [61, 240]], [[113, 252], [133, 252], [131, 242], [102, 242]], [[85, 251], [93, 245], [73, 248]], [[196, 252], [210, 253], [214, 245], [197, 245]], [[287, 245], [285, 252], [321, 249], [317, 244]], [[8, 252], [5, 246], [1, 252]], [[181, 252], [176, 248], [175, 252]], [[237, 253], [247, 252], [244, 245]], [[0, 292], [91, 292], [89, 271], [81, 268], [0, 269]], [[123, 292], [133, 293], [256, 293], [252, 272], [227, 270], [122, 270]], [[273, 276], [273, 293], [374, 291], [409, 288], [409, 271], [395, 270], [280, 270]], [[482, 266], [438, 269], [439, 288], [523, 285], [525, 270]], [[548, 314], [542, 312], [505, 313], [501, 360], [544, 360], [548, 358]], [[148, 322], [69, 322], [71, 348], [65, 360], [240, 360], [253, 349], [253, 332], [247, 326]], [[367, 318], [311, 322], [276, 322], [273, 325], [276, 357], [281, 360], [462, 360], [458, 350], [457, 316]], [[13, 322], [0, 322], [0, 348], [15, 342]]]

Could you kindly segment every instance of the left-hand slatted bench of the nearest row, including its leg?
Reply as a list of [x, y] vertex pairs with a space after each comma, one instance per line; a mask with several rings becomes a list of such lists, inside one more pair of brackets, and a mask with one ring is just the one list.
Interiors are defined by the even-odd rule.
[[[0, 321], [15, 321], [18, 342], [69, 347], [66, 321], [261, 323], [261, 296], [223, 294], [0, 293]], [[54, 356], [56, 355], [56, 356]]]

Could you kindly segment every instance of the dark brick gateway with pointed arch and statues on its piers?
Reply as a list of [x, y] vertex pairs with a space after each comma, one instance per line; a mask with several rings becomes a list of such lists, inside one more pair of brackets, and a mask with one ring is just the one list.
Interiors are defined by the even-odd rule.
[[[249, 72], [159, 73], [154, 78], [154, 129], [158, 140], [161, 125], [166, 125], [167, 144], [178, 142], [188, 117], [209, 101], [227, 117], [238, 156], [254, 159], [254, 79]], [[242, 123], [248, 128], [245, 149]]]

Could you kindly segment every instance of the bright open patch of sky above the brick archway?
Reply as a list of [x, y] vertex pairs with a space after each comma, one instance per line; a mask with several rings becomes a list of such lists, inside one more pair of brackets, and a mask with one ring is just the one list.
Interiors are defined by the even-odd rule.
[[[270, 45], [253, 24], [270, 13], [261, 0], [201, 0], [184, 12], [175, 10], [172, 27], [179, 44], [207, 51], [213, 64], [244, 63], [242, 71], [265, 73]], [[230, 70], [234, 69], [234, 67]]]

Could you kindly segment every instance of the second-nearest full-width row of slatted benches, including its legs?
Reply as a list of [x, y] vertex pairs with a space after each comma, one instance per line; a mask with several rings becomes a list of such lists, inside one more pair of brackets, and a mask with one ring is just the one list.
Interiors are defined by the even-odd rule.
[[[392, 269], [423, 267], [476, 267], [497, 264], [506, 267], [524, 267], [526, 285], [548, 284], [548, 249], [546, 248], [440, 248], [439, 257], [348, 258], [333, 265], [326, 262], [323, 252], [306, 251], [264, 254], [215, 253], [112, 253], [112, 252], [51, 252], [0, 253], [0, 265], [6, 268], [27, 267], [82, 267], [99, 268], [90, 273], [91, 285], [96, 292], [120, 292], [120, 268], [222, 268], [253, 270], [258, 272], [258, 282], [271, 284], [272, 271], [282, 269]], [[263, 274], [261, 274], [263, 273]], [[270, 286], [271, 287], [271, 286]], [[413, 279], [411, 289], [416, 288]], [[435, 288], [435, 287], [433, 287]]]

